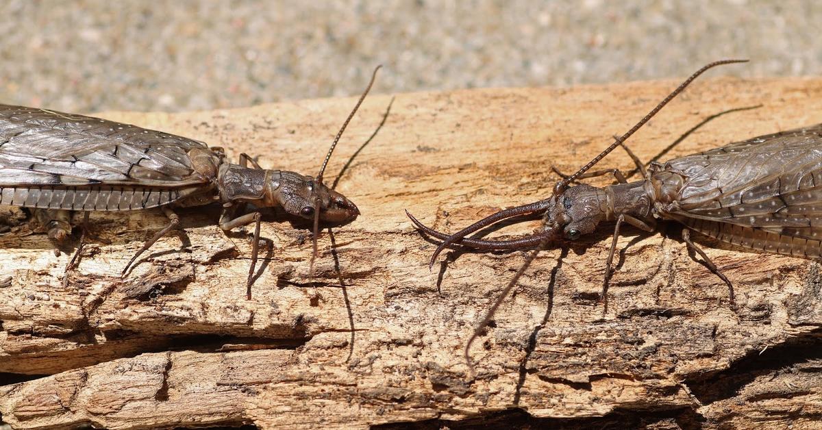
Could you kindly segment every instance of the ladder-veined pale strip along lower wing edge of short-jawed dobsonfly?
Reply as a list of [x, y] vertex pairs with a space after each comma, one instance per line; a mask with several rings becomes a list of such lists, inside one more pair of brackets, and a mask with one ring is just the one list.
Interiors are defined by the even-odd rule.
[[138, 210], [177, 201], [192, 190], [151, 187], [0, 187], [0, 205], [66, 210]]

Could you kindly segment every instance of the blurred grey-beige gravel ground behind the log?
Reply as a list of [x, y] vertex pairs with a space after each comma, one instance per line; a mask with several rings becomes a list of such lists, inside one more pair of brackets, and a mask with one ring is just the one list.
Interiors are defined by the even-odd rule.
[[[629, 4], [630, 3], [630, 4]], [[0, 100], [192, 110], [376, 91], [822, 73], [822, 2], [0, 2]]]

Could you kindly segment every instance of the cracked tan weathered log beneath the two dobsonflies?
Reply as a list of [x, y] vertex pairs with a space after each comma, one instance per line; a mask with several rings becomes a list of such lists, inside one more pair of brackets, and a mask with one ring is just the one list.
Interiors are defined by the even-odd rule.
[[[398, 95], [339, 181], [363, 212], [335, 230], [341, 275], [323, 233], [312, 284], [307, 230], [270, 215], [252, 300], [245, 299], [249, 235], [222, 233], [219, 208], [181, 211], [184, 230], [161, 239], [124, 280], [119, 270], [166, 220], [154, 211], [93, 214], [100, 240], [67, 287], [60, 276], [72, 247], [55, 257], [44, 233], [17, 225], [0, 236], [0, 421], [13, 428], [818, 426], [810, 422], [822, 416], [820, 266], [696, 235], [734, 283], [735, 312], [723, 282], [689, 257], [676, 225], [664, 236], [626, 229], [607, 314], [597, 300], [607, 228], [543, 252], [473, 345], [476, 374], [464, 363], [473, 325], [524, 253], [450, 252], [430, 271], [434, 245], [403, 210], [455, 231], [546, 197], [557, 180], [551, 164], [579, 167], [676, 85]], [[366, 100], [328, 178], [371, 136], [389, 100]], [[673, 145], [706, 118], [756, 104]], [[103, 116], [224, 146], [233, 160], [248, 152], [264, 167], [314, 174], [352, 105], [321, 99]], [[820, 121], [820, 79], [703, 79], [629, 145], [643, 160], [667, 160]], [[601, 166], [632, 164], [617, 150]]]

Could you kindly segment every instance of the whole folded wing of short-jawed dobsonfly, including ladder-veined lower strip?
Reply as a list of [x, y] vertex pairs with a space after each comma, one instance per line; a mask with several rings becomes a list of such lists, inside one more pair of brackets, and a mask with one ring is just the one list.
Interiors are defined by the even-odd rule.
[[206, 183], [192, 148], [169, 133], [46, 109], [0, 104], [0, 204], [129, 210], [161, 206]]

